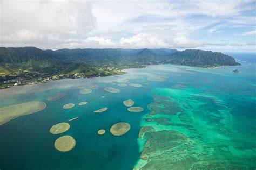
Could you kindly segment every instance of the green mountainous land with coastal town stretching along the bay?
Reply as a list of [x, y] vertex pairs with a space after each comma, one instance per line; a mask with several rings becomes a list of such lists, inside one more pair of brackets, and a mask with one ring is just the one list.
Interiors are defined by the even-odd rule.
[[0, 89], [65, 78], [120, 75], [125, 74], [122, 69], [143, 68], [158, 64], [206, 68], [241, 65], [232, 56], [198, 49], [186, 49], [181, 52], [166, 48], [52, 51], [36, 47], [0, 47]]

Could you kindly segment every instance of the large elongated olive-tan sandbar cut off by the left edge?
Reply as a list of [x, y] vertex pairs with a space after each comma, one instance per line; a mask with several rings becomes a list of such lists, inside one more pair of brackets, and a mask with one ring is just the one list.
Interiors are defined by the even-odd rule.
[[19, 116], [33, 114], [46, 107], [43, 102], [27, 102], [14, 105], [8, 105], [0, 108], [0, 125], [15, 119]]

